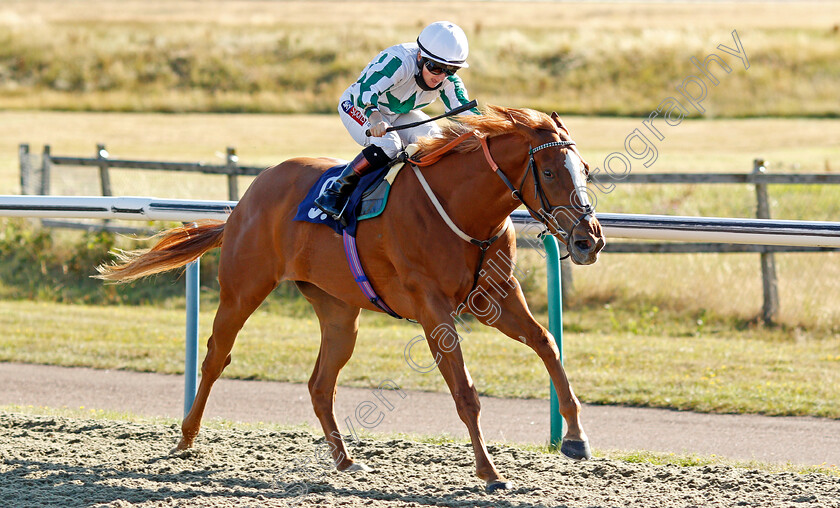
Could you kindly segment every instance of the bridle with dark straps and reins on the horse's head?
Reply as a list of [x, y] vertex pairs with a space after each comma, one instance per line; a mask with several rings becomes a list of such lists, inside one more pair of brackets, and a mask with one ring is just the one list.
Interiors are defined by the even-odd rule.
[[[528, 209], [528, 212], [530, 212], [531, 215], [535, 219], [537, 219], [540, 222], [540, 224], [542, 224], [543, 230], [540, 231], [540, 233], [537, 236], [539, 238], [542, 238], [543, 236], [545, 236], [550, 231], [549, 225], [547, 224], [547, 222], [550, 222], [551, 226], [553, 226], [554, 229], [561, 234], [562, 238], [561, 238], [560, 241], [566, 245], [567, 253], [561, 259], [565, 259], [565, 258], [569, 257], [571, 255], [571, 250], [569, 249], [569, 241], [571, 241], [572, 233], [574, 233], [575, 228], [578, 227], [578, 225], [583, 221], [583, 219], [585, 219], [588, 215], [592, 215], [592, 206], [590, 206], [590, 205], [586, 205], [586, 206], [579, 206], [579, 205], [552, 206], [551, 203], [549, 203], [549, 201], [548, 201], [548, 196], [546, 196], [545, 190], [542, 187], [542, 182], [540, 181], [539, 175], [537, 174], [537, 171], [538, 171], [537, 162], [536, 162], [536, 160], [534, 160], [534, 154], [539, 152], [540, 150], [544, 150], [546, 148], [551, 148], [551, 147], [555, 147], [555, 146], [559, 146], [559, 147], [572, 146], [572, 145], [575, 144], [575, 142], [571, 141], [571, 140], [570, 141], [550, 141], [548, 143], [543, 143], [542, 145], [539, 145], [536, 148], [529, 148], [529, 150], [528, 150], [528, 167], [525, 170], [525, 174], [522, 176], [522, 181], [519, 183], [519, 188], [516, 188], [516, 187], [513, 186], [510, 179], [507, 177], [507, 175], [505, 175], [504, 172], [502, 172], [502, 170], [499, 168], [499, 165], [496, 164], [496, 162], [493, 160], [493, 157], [490, 155], [490, 148], [487, 146], [487, 138], [482, 136], [482, 137], [480, 137], [480, 140], [481, 140], [481, 146], [484, 149], [484, 156], [487, 159], [487, 162], [490, 163], [490, 167], [493, 169], [493, 171], [497, 175], [499, 175], [499, 178], [502, 179], [502, 182], [504, 182], [504, 184], [508, 187], [508, 189], [510, 189], [511, 196], [515, 200], [517, 200], [520, 203], [522, 203], [523, 205], [525, 205], [525, 208]], [[525, 180], [528, 179], [529, 174], [532, 175], [533, 178], [534, 178], [534, 198], [539, 199], [539, 201], [540, 201], [540, 209], [539, 210], [534, 210], [534, 208], [531, 207], [531, 205], [529, 205], [528, 203], [526, 203], [525, 200], [522, 198], [522, 189], [525, 186]], [[580, 215], [577, 217], [577, 219], [575, 219], [575, 221], [572, 223], [572, 227], [570, 227], [568, 231], [566, 231], [559, 224], [556, 217], [554, 216], [554, 212], [556, 212], [558, 210], [575, 210], [575, 211], [581, 212]]]

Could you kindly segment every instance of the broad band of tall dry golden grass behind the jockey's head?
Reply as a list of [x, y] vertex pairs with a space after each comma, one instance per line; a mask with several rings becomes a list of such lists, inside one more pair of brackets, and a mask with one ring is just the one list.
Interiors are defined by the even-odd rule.
[[[840, 114], [840, 7], [800, 2], [11, 0], [0, 107], [331, 112], [380, 49], [437, 19], [465, 28], [462, 75], [486, 102], [639, 115], [699, 72], [689, 57], [717, 52], [733, 70], [707, 116]], [[733, 31], [748, 68], [718, 49]]]

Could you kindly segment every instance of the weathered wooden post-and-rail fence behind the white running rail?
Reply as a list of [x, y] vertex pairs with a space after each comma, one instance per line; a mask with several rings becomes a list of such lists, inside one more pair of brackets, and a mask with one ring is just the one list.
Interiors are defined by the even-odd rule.
[[[20, 178], [21, 191], [26, 194], [50, 194], [50, 178], [54, 166], [92, 166], [99, 168], [101, 193], [111, 196], [111, 179], [109, 170], [146, 169], [161, 171], [184, 171], [215, 175], [227, 175], [228, 199], [239, 200], [239, 186], [237, 177], [256, 176], [264, 167], [240, 166], [239, 158], [234, 148], [228, 148], [225, 163], [220, 165], [192, 163], [192, 162], [159, 162], [111, 159], [104, 145], [96, 146], [94, 157], [65, 157], [53, 155], [49, 145], [44, 146], [40, 167], [31, 163], [29, 145], [20, 145]], [[37, 173], [40, 173], [38, 175]], [[38, 178], [38, 176], [40, 178]], [[623, 178], [612, 176], [600, 177], [597, 183], [601, 186], [610, 184], [748, 184], [755, 186], [756, 218], [769, 219], [770, 201], [767, 186], [770, 184], [840, 184], [840, 174], [770, 174], [766, 172], [765, 161], [755, 159], [752, 171], [749, 173], [630, 173]], [[64, 226], [66, 223], [48, 223], [50, 226]], [[90, 225], [75, 225], [90, 229]], [[71, 225], [72, 227], [72, 225]], [[108, 229], [115, 229], [109, 227]], [[117, 228], [118, 229], [118, 228]], [[605, 252], [610, 253], [729, 253], [755, 252], [761, 257], [761, 275], [764, 293], [762, 317], [765, 322], [772, 322], [779, 311], [778, 283], [776, 278], [775, 252], [824, 252], [836, 251], [832, 248], [821, 247], [785, 247], [775, 245], [735, 245], [725, 243], [676, 243], [676, 242], [610, 242]], [[573, 290], [571, 267], [564, 263], [563, 291]], [[568, 296], [568, 295], [564, 295]]]

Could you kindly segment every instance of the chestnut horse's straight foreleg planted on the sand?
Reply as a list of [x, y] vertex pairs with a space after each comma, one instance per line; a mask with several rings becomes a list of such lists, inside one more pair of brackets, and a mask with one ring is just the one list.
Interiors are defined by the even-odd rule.
[[458, 416], [467, 426], [467, 431], [470, 434], [470, 441], [475, 453], [477, 476], [484, 480], [487, 492], [512, 488], [510, 482], [496, 470], [484, 443], [484, 436], [479, 423], [481, 403], [472, 377], [470, 377], [464, 363], [464, 356], [461, 353], [459, 343], [460, 339], [455, 331], [454, 319], [449, 314], [437, 312], [421, 317], [420, 323], [426, 332], [426, 340], [429, 343], [432, 357], [435, 358], [438, 370], [446, 380], [452, 398], [455, 400]]

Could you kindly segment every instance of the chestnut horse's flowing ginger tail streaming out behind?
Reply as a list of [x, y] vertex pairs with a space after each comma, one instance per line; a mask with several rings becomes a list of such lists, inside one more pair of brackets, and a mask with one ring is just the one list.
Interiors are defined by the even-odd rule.
[[151, 249], [117, 251], [112, 264], [96, 267], [97, 279], [130, 282], [147, 275], [180, 268], [210, 249], [222, 245], [225, 223], [204, 220], [160, 233], [162, 238]]

